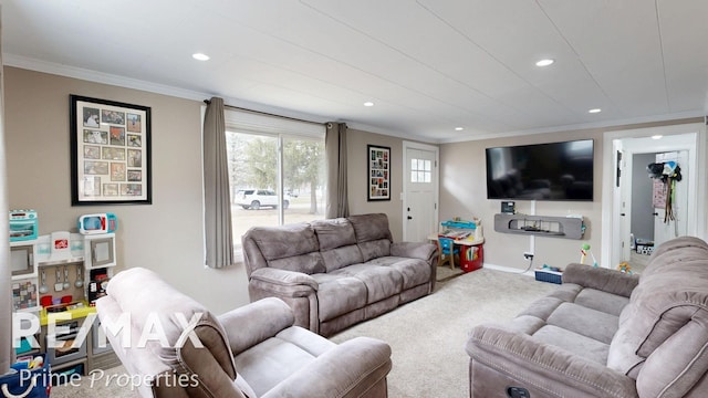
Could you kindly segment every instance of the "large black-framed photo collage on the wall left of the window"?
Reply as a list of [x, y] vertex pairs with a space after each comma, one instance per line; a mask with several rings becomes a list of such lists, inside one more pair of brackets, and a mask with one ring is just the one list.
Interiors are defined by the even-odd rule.
[[71, 205], [150, 205], [150, 108], [70, 95]]

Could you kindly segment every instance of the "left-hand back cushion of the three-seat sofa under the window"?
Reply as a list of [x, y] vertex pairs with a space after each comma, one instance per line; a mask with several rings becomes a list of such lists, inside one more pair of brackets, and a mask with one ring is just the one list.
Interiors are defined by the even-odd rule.
[[263, 266], [306, 274], [325, 272], [317, 237], [308, 223], [253, 227], [241, 241], [249, 275]]

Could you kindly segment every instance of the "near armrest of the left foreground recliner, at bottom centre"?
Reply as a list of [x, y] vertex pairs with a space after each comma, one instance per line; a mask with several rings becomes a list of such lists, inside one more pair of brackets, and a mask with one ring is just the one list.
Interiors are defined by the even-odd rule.
[[355, 337], [322, 354], [262, 398], [361, 397], [383, 380], [391, 367], [388, 344]]

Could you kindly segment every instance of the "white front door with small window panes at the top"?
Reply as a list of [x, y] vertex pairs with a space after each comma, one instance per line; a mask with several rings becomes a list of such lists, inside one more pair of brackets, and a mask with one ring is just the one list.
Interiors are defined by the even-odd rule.
[[403, 239], [425, 242], [438, 224], [438, 148], [404, 143]]

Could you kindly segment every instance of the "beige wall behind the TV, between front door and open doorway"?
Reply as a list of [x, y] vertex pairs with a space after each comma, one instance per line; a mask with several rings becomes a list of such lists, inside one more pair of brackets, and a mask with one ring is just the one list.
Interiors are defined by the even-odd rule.
[[[532, 212], [530, 200], [517, 200], [517, 212], [538, 216], [583, 214], [587, 226], [583, 240], [543, 238], [494, 231], [494, 214], [501, 200], [487, 200], [485, 149], [494, 146], [550, 143], [570, 139], [594, 139], [595, 167], [592, 202], [537, 201]], [[485, 231], [485, 263], [525, 270], [524, 251], [535, 255], [533, 265], [565, 266], [580, 260], [580, 248], [590, 243], [600, 261], [602, 219], [602, 134], [598, 130], [543, 134], [501, 139], [486, 139], [440, 146], [440, 220], [459, 216], [478, 217]], [[533, 242], [532, 242], [533, 241]]]

